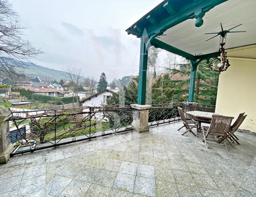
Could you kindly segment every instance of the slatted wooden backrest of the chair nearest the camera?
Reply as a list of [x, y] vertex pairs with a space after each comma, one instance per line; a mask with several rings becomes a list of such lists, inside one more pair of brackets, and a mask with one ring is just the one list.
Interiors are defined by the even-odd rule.
[[208, 132], [216, 135], [226, 135], [230, 130], [230, 125], [234, 117], [212, 115], [212, 121], [210, 121], [210, 128]]

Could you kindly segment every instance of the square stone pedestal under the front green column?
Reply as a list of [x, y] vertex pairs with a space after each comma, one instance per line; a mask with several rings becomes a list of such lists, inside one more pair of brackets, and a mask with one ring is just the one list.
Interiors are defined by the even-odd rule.
[[131, 104], [133, 110], [133, 123], [131, 125], [139, 133], [149, 131], [148, 127], [148, 109], [150, 105]]

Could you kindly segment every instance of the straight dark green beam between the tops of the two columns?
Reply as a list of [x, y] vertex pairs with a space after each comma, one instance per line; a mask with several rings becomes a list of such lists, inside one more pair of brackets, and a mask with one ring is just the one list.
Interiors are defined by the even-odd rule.
[[152, 39], [151, 44], [154, 45], [154, 47], [164, 49], [164, 50], [174, 53], [176, 55], [183, 56], [187, 59], [196, 60], [196, 57], [191, 55], [190, 53], [186, 53], [185, 51], [181, 51], [181, 50], [177, 49], [176, 47], [172, 47], [171, 45], [168, 45], [168, 44], [160, 41], [159, 39]]

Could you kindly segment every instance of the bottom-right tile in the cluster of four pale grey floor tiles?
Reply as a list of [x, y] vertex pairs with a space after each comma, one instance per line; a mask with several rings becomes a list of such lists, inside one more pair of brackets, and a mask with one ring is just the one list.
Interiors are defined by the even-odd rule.
[[154, 179], [136, 177], [134, 192], [146, 196], [156, 196], [156, 183]]

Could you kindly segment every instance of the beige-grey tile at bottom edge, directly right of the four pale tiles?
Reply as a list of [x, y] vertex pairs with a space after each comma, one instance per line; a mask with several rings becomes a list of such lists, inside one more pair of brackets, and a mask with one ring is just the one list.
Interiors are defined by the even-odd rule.
[[179, 192], [175, 183], [156, 180], [156, 196], [158, 197], [178, 197]]

